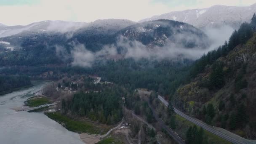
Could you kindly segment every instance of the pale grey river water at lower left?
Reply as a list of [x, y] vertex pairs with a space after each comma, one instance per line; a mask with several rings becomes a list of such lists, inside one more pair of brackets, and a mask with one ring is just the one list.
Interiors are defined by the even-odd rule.
[[68, 131], [43, 113], [15, 112], [33, 92], [47, 83], [0, 96], [0, 144], [83, 144], [77, 133]]

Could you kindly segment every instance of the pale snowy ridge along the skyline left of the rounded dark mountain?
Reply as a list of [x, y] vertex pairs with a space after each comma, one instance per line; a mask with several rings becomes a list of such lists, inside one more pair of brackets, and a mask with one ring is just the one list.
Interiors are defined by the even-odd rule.
[[124, 19], [104, 19], [96, 20], [91, 23], [72, 21], [40, 21], [26, 26], [10, 27], [0, 24], [0, 37], [8, 37], [22, 33], [39, 34], [45, 32], [78, 32], [85, 29], [97, 29], [99, 31], [103, 30], [107, 32], [116, 32], [117, 30], [123, 29], [132, 24], [135, 24], [135, 22]]

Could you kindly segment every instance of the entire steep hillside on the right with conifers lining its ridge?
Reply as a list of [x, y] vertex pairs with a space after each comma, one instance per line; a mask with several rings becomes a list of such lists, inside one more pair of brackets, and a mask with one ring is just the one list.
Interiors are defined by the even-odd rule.
[[243, 23], [228, 43], [202, 56], [190, 70], [173, 103], [204, 122], [248, 139], [256, 138], [256, 16]]

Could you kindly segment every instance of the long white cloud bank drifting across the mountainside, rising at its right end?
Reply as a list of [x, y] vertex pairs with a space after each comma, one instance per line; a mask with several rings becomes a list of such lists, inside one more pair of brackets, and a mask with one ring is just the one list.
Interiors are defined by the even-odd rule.
[[[73, 59], [73, 66], [91, 67], [97, 59], [107, 59], [121, 57], [121, 59], [132, 58], [136, 61], [140, 59], [150, 60], [183, 60], [190, 59], [196, 60], [200, 58], [204, 53], [214, 50], [223, 45], [225, 40], [228, 40], [232, 34], [233, 29], [229, 26], [223, 26], [219, 28], [205, 29], [205, 33], [208, 35], [212, 44], [208, 48], [184, 48], [182, 44], [172, 43], [166, 41], [165, 46], [155, 46], [149, 48], [147, 45], [142, 44], [136, 40], [129, 40], [127, 37], [118, 37], [115, 44], [105, 45], [100, 51], [89, 51], [83, 44], [72, 43], [72, 51], [70, 56]], [[200, 40], [197, 40], [200, 42]], [[61, 48], [56, 48], [59, 51]], [[121, 50], [120, 50], [121, 49]], [[58, 54], [58, 53], [57, 53]]]

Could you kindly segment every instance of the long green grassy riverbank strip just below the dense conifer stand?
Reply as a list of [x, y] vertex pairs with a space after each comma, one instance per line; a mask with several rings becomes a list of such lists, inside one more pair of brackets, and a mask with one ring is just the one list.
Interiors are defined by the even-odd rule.
[[63, 125], [67, 130], [77, 133], [103, 134], [107, 133], [110, 128], [110, 126], [106, 128], [91, 122], [75, 121], [65, 115], [61, 115], [60, 112], [45, 113], [45, 115]]

